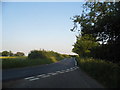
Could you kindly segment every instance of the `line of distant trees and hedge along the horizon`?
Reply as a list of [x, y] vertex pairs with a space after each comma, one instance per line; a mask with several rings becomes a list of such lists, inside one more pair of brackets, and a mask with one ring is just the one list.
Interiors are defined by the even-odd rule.
[[[25, 56], [24, 52], [16, 52], [13, 53], [12, 51], [2, 51], [0, 52], [0, 56]], [[49, 57], [49, 56], [63, 56], [63, 57], [75, 57], [76, 55], [67, 55], [67, 54], [60, 54], [58, 52], [54, 52], [54, 51], [47, 51], [47, 50], [32, 50], [30, 51], [30, 53], [28, 54], [29, 58], [38, 58], [38, 57]]]

